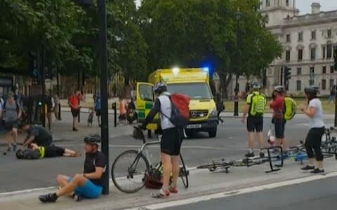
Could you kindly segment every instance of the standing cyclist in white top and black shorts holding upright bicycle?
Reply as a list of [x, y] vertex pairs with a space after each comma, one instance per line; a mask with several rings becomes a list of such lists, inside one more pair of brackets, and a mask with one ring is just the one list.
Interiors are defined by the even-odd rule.
[[[157, 83], [154, 86], [154, 93], [157, 99], [150, 113], [145, 118], [140, 128], [146, 129], [157, 113], [160, 113], [162, 137], [160, 143], [161, 162], [163, 165], [163, 186], [158, 193], [152, 193], [152, 197], [169, 197], [170, 193], [178, 193], [177, 180], [180, 171], [180, 146], [183, 142], [183, 130], [173, 125], [171, 117], [171, 95], [167, 92], [165, 83]], [[169, 186], [170, 174], [173, 174], [172, 184]]]

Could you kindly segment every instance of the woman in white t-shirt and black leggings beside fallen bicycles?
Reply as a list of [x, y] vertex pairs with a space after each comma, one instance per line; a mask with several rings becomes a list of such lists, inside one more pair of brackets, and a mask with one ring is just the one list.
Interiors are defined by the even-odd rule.
[[[321, 141], [325, 131], [322, 102], [317, 98], [317, 94], [319, 93], [317, 87], [306, 87], [304, 92], [308, 105], [303, 106], [301, 111], [309, 117], [310, 130], [305, 139], [305, 150], [308, 154], [309, 164], [303, 167], [302, 170], [310, 170], [312, 174], [322, 174], [324, 173], [324, 169]], [[315, 158], [317, 168], [315, 168]]]

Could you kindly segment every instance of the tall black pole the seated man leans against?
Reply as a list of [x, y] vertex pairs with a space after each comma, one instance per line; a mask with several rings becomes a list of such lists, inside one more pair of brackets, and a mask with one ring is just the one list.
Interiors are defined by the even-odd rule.
[[100, 7], [100, 97], [102, 105], [102, 151], [107, 156], [103, 194], [109, 194], [109, 122], [107, 107], [107, 5], [106, 0], [99, 0]]

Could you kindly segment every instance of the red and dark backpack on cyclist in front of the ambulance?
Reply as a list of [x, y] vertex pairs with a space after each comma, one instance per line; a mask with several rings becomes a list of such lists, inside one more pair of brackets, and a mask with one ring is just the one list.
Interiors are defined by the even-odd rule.
[[[171, 101], [170, 122], [178, 128], [185, 128], [190, 120], [190, 97], [180, 93], [173, 93], [168, 97]], [[161, 114], [168, 118], [164, 113]]]

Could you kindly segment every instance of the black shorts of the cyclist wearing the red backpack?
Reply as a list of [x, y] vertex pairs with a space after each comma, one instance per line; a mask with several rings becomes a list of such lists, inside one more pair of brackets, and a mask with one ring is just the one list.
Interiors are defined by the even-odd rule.
[[160, 142], [160, 151], [167, 155], [179, 155], [183, 143], [183, 130], [177, 127], [163, 130]]

